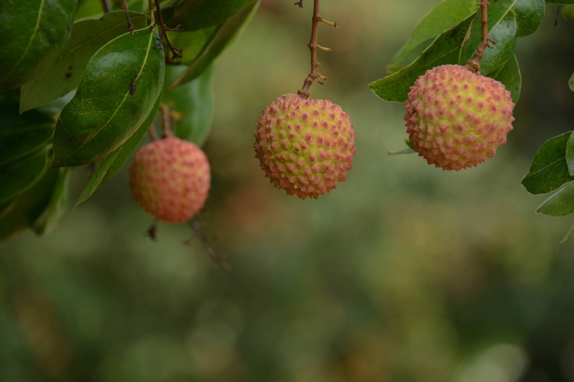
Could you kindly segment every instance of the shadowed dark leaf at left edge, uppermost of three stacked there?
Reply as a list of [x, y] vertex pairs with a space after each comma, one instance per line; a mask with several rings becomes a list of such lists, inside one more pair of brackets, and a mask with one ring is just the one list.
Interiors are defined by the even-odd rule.
[[52, 144], [54, 124], [38, 124], [0, 131], [0, 165], [15, 162]]

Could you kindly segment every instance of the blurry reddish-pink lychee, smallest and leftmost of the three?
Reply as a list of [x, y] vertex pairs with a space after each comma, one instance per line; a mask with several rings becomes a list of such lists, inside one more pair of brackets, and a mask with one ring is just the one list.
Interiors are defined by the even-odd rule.
[[207, 199], [210, 164], [195, 144], [169, 136], [135, 154], [130, 186], [135, 201], [150, 215], [167, 223], [183, 223]]

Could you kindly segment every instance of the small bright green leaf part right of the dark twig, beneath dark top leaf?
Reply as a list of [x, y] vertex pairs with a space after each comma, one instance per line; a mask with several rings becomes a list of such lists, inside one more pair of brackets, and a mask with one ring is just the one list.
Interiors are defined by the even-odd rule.
[[168, 38], [169, 41], [172, 42], [172, 45], [183, 49], [183, 57], [178, 58], [177, 60], [171, 60], [173, 54], [168, 49], [169, 60], [178, 65], [193, 64], [193, 62], [197, 60], [197, 57], [199, 57], [200, 53], [209, 46], [211, 40], [219, 30], [219, 27], [219, 25], [215, 25], [184, 33], [168, 31]]

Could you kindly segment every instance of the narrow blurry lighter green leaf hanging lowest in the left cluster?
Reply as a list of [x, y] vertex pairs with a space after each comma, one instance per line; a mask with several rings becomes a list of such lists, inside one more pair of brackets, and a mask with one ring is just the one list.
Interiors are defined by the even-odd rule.
[[57, 176], [51, 188], [48, 205], [31, 227], [38, 235], [48, 233], [56, 226], [68, 203], [68, 180], [71, 172], [69, 167], [51, 168], [48, 172], [56, 172]]

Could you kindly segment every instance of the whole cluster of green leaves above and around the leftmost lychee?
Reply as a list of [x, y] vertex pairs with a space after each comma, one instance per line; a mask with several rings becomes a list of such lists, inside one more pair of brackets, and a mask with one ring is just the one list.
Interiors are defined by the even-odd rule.
[[123, 167], [156, 119], [201, 145], [212, 116], [214, 60], [261, 0], [172, 0], [161, 6], [184, 57], [171, 60], [147, 0], [103, 13], [100, 0], [0, 3], [0, 239], [49, 230], [67, 204], [70, 167], [98, 163], [77, 203]]

